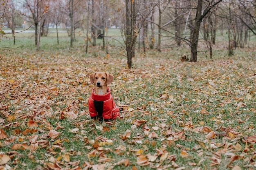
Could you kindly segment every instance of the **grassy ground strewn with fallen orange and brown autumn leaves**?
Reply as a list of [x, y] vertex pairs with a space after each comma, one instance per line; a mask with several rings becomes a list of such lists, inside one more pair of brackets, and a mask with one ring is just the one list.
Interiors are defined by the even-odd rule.
[[[0, 169], [256, 168], [255, 51], [196, 63], [138, 54], [130, 70], [125, 57], [3, 53]], [[115, 77], [117, 120], [90, 119], [95, 71]]]

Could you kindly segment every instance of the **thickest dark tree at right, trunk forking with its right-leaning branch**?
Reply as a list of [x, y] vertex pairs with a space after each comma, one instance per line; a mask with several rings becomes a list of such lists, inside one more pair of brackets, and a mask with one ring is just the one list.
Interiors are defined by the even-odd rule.
[[190, 62], [196, 62], [197, 61], [198, 40], [199, 40], [199, 32], [200, 32], [200, 26], [201, 26], [202, 19], [211, 11], [211, 9], [213, 7], [215, 7], [222, 0], [217, 0], [217, 2], [215, 2], [214, 0], [212, 0], [211, 2], [207, 1], [208, 4], [206, 5], [206, 8], [202, 12], [203, 1], [204, 0], [198, 0], [198, 4], [197, 4], [195, 20], [194, 20], [194, 23], [193, 23], [193, 30], [192, 30], [193, 32], [192, 32], [192, 37], [191, 37]]

